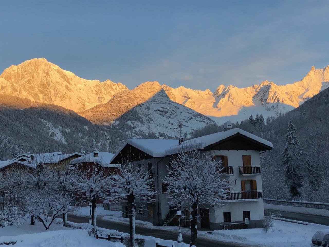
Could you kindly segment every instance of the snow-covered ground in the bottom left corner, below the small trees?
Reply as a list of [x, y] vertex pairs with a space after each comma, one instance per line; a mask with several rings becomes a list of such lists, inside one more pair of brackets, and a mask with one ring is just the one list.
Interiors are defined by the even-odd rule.
[[36, 221], [30, 226], [27, 220], [20, 226], [0, 228], [0, 244], [16, 242], [14, 246], [124, 246], [121, 243], [101, 241], [89, 236], [87, 230], [71, 229], [62, 226], [61, 221], [54, 222], [45, 231], [42, 223]]

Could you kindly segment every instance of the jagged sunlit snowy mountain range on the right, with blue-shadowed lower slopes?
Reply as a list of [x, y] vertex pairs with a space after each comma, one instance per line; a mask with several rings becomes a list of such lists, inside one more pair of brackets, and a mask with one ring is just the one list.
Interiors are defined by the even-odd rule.
[[266, 118], [286, 113], [328, 88], [329, 66], [324, 69], [313, 66], [302, 80], [282, 86], [268, 81], [246, 88], [220, 85], [214, 93], [209, 89], [171, 88], [165, 84], [162, 87], [171, 100], [214, 117], [220, 123], [226, 119], [245, 120], [256, 113]]

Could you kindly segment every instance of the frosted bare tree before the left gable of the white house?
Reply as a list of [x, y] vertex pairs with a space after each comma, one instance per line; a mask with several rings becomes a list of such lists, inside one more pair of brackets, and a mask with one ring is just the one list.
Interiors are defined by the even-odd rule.
[[127, 202], [130, 228], [130, 244], [135, 245], [135, 215], [136, 206], [142, 203], [155, 202], [157, 192], [154, 191], [154, 178], [150, 172], [144, 172], [132, 160], [132, 155], [128, 155], [126, 160], [122, 160], [121, 166], [111, 174], [109, 179], [111, 184], [111, 194], [108, 197], [111, 202]]

